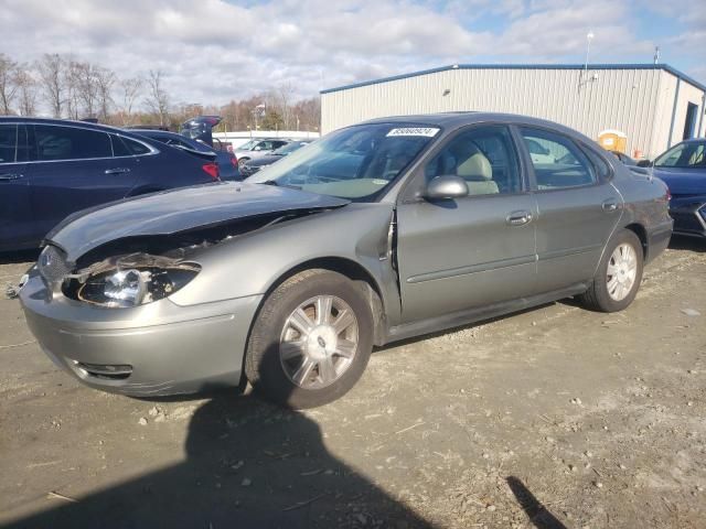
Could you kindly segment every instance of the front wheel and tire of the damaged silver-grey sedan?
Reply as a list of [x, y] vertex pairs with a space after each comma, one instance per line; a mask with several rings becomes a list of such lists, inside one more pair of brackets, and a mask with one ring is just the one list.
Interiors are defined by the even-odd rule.
[[363, 375], [373, 328], [356, 283], [329, 270], [306, 270], [265, 300], [250, 332], [245, 375], [257, 392], [285, 407], [325, 404]]

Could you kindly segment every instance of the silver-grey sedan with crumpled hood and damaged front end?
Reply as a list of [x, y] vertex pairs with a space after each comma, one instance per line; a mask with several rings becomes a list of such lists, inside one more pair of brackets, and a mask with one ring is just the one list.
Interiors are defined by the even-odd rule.
[[246, 377], [306, 408], [345, 393], [374, 346], [568, 296], [620, 311], [671, 233], [664, 184], [573, 130], [407, 116], [332, 132], [245, 183], [81, 212], [20, 296], [46, 354], [95, 388]]

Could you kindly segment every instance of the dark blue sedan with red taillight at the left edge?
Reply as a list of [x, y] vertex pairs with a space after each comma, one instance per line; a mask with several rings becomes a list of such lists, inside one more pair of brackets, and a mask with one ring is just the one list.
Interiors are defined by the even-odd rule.
[[0, 250], [39, 247], [67, 215], [218, 180], [217, 165], [125, 130], [0, 118]]

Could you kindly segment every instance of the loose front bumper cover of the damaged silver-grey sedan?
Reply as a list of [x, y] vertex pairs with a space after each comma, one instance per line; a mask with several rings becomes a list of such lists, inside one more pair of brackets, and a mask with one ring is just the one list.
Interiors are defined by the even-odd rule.
[[136, 397], [237, 386], [261, 298], [107, 309], [51, 292], [38, 273], [20, 291], [28, 325], [57, 366], [87, 386]]

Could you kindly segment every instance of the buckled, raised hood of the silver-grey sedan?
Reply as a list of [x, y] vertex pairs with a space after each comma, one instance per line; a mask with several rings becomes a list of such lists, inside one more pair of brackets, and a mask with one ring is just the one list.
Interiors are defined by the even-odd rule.
[[223, 182], [127, 198], [84, 209], [57, 225], [45, 240], [75, 262], [111, 240], [170, 235], [271, 213], [341, 207], [350, 201], [289, 187]]

